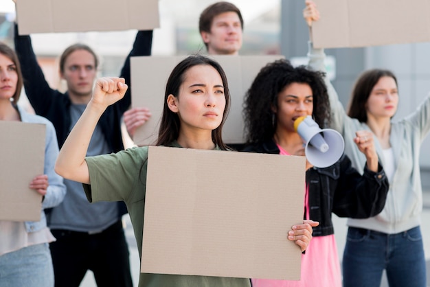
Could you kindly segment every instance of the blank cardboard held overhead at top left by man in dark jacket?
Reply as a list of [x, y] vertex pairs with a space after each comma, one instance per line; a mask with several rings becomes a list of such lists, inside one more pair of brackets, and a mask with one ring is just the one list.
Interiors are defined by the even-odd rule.
[[16, 15], [21, 35], [159, 27], [158, 0], [19, 0]]

